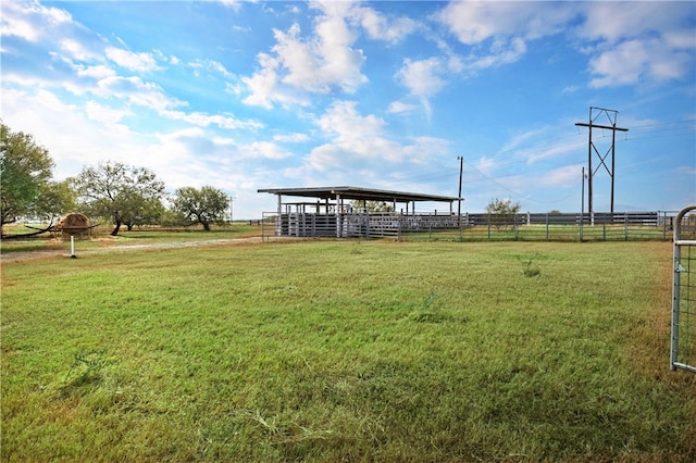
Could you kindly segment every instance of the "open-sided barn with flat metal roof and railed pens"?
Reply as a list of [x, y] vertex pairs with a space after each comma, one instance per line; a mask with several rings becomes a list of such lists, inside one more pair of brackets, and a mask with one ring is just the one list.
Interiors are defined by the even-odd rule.
[[[396, 236], [403, 228], [403, 220], [422, 220], [457, 226], [458, 216], [452, 204], [459, 198], [390, 191], [359, 187], [268, 188], [277, 197], [275, 236], [293, 237], [381, 237]], [[390, 204], [394, 212], [374, 213], [368, 201]], [[415, 212], [419, 202], [445, 203], [445, 211], [425, 218]], [[358, 204], [358, 205], [356, 205]], [[360, 205], [361, 204], [361, 205]], [[397, 212], [398, 211], [398, 212]]]

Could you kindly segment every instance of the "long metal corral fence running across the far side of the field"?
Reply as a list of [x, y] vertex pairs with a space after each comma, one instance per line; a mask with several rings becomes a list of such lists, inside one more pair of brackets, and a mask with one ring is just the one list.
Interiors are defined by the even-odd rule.
[[[262, 235], [398, 240], [671, 240], [678, 212], [620, 213], [264, 213]], [[696, 227], [689, 215], [685, 227]]]

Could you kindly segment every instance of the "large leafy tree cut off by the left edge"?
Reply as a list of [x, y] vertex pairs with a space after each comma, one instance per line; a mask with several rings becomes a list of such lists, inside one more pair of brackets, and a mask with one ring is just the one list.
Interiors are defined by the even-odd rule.
[[40, 198], [53, 175], [48, 150], [23, 132], [0, 123], [0, 205], [2, 225], [25, 215], [41, 214]]

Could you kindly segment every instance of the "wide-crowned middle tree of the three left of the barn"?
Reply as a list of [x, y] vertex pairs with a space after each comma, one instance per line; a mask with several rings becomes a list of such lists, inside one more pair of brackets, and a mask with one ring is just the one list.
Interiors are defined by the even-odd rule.
[[90, 215], [113, 222], [112, 236], [119, 235], [121, 225], [130, 228], [153, 209], [162, 209], [164, 184], [145, 167], [109, 161], [84, 167], [72, 184]]

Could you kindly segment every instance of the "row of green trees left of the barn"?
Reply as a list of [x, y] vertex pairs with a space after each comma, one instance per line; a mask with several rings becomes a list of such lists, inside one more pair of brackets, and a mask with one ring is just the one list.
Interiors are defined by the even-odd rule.
[[23, 218], [53, 223], [70, 212], [108, 220], [113, 236], [138, 225], [201, 224], [210, 230], [225, 218], [228, 198], [217, 188], [183, 187], [171, 196], [152, 171], [114, 161], [57, 182], [53, 160], [30, 134], [0, 122], [0, 233]]

